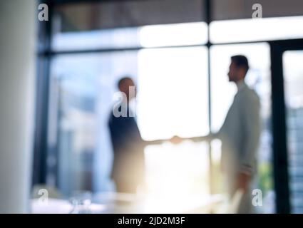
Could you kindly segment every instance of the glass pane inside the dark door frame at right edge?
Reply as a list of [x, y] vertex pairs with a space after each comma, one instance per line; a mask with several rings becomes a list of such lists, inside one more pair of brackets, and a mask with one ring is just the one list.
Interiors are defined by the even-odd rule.
[[291, 212], [303, 213], [303, 51], [283, 54]]

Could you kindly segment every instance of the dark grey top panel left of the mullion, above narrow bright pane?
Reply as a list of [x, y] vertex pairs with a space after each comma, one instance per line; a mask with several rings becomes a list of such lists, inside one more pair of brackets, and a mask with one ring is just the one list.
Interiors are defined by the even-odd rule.
[[111, 1], [56, 8], [62, 31], [205, 21], [204, 0]]

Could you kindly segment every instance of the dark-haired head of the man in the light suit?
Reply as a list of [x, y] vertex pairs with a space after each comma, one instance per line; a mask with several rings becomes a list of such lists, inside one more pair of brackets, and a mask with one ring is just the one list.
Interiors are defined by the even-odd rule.
[[245, 56], [232, 56], [230, 71], [227, 73], [228, 79], [232, 82], [242, 81], [250, 66]]

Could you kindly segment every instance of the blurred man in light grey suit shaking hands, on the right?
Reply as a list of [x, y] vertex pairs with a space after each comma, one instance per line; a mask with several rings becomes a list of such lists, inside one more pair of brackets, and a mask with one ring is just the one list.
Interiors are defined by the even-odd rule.
[[[232, 198], [237, 190], [244, 195], [238, 213], [253, 213], [252, 182], [257, 171], [260, 139], [260, 99], [245, 83], [249, 64], [245, 56], [232, 56], [228, 78], [237, 85], [237, 93], [218, 133], [191, 138], [194, 141], [219, 138], [222, 141], [222, 172]], [[179, 140], [181, 140], [179, 138]], [[178, 137], [175, 138], [178, 142]]]

